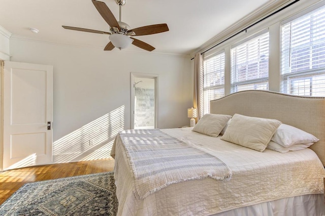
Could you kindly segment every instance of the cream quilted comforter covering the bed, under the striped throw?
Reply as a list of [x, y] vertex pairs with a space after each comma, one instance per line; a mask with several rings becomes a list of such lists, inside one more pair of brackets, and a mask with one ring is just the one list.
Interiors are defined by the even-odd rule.
[[258, 152], [191, 128], [163, 132], [209, 152], [227, 164], [231, 181], [193, 180], [172, 184], [145, 199], [134, 195], [130, 167], [122, 145], [113, 146], [118, 215], [210, 215], [242, 206], [304, 194], [323, 193], [325, 170], [310, 149]]

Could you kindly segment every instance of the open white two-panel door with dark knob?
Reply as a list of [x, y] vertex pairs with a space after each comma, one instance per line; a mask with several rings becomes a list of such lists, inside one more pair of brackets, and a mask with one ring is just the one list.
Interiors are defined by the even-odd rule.
[[52, 162], [53, 67], [6, 61], [3, 80], [3, 169]]

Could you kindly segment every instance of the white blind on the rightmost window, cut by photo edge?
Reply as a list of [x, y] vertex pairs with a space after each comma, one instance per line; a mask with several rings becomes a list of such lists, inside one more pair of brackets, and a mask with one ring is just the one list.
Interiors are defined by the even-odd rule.
[[281, 92], [325, 96], [325, 7], [281, 25]]

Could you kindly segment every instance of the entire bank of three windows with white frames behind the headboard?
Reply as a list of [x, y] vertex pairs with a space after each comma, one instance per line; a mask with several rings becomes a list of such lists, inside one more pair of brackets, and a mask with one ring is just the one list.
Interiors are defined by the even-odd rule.
[[244, 90], [325, 97], [325, 2], [293, 5], [267, 20], [201, 50], [201, 114], [211, 100]]

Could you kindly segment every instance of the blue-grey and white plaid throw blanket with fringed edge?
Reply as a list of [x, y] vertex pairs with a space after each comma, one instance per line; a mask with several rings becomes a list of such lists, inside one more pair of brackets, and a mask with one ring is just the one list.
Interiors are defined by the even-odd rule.
[[159, 129], [119, 133], [134, 174], [136, 195], [143, 199], [168, 185], [210, 177], [230, 180], [232, 172], [219, 158]]

